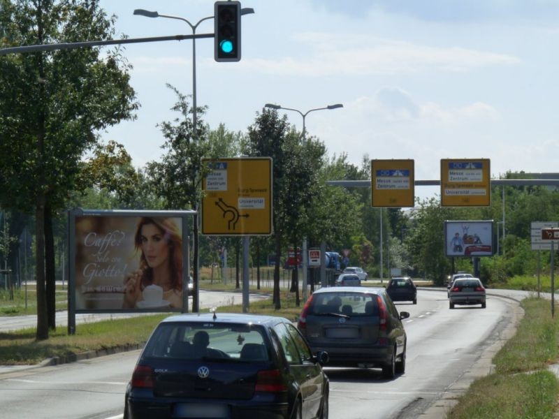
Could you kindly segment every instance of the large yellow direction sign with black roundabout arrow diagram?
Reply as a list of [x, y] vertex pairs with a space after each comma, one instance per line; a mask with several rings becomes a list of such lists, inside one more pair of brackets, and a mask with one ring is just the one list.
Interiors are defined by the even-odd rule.
[[202, 234], [272, 234], [272, 159], [203, 160]]

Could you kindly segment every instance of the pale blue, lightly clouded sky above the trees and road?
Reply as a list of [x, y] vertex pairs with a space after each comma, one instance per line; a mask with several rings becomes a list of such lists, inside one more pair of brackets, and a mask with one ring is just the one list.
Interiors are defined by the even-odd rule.
[[[208, 0], [101, 0], [129, 38], [192, 34]], [[329, 156], [413, 159], [415, 179], [440, 179], [441, 159], [490, 159], [491, 175], [559, 172], [559, 1], [247, 0], [242, 59], [216, 62], [211, 38], [196, 40], [196, 101], [215, 129], [247, 132], [266, 103], [307, 113], [305, 128]], [[213, 20], [196, 34], [211, 34]], [[102, 133], [134, 166], [158, 160], [157, 126], [193, 92], [192, 41], [126, 45], [141, 108]], [[279, 110], [298, 131], [303, 117]], [[335, 179], [332, 179], [335, 180]], [[415, 195], [440, 194], [416, 186]]]

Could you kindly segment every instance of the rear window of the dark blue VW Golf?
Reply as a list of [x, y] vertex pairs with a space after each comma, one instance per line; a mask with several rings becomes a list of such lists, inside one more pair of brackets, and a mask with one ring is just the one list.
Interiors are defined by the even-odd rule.
[[230, 358], [249, 362], [269, 359], [261, 327], [215, 323], [161, 323], [150, 337], [143, 356], [187, 360]]

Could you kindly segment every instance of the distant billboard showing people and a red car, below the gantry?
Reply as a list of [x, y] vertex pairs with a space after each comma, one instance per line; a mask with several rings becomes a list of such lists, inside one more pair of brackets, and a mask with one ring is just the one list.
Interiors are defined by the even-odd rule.
[[446, 256], [493, 256], [493, 220], [444, 221]]

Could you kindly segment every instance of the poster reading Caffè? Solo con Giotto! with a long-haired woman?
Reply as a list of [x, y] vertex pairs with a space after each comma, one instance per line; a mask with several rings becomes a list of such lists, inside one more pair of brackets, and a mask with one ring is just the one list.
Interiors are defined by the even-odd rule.
[[182, 309], [182, 218], [76, 216], [74, 242], [76, 311]]

